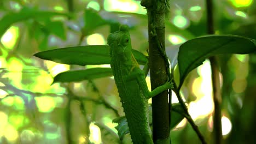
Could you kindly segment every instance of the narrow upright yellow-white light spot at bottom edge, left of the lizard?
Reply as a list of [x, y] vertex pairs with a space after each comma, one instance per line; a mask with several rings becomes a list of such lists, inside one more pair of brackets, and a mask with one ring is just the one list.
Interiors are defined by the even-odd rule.
[[94, 123], [90, 123], [90, 142], [95, 144], [101, 143], [101, 130]]

